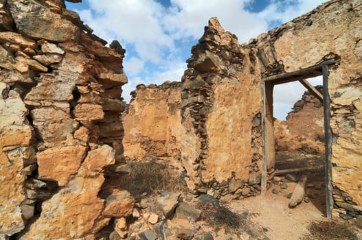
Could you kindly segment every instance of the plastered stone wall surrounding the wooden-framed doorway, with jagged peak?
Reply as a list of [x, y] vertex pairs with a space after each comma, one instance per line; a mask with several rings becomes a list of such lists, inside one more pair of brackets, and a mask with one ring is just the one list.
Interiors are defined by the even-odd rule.
[[190, 185], [229, 195], [236, 179], [236, 189], [258, 191], [262, 77], [335, 59], [328, 78], [332, 184], [334, 207], [345, 209], [335, 213], [361, 213], [361, 11], [359, 1], [330, 1], [241, 46], [210, 20], [182, 80], [181, 154]]

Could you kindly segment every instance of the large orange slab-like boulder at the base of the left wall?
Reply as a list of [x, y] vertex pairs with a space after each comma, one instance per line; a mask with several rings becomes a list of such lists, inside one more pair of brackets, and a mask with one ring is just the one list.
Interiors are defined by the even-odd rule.
[[[66, 166], [66, 165], [63, 165]], [[82, 239], [93, 231], [109, 224], [110, 218], [102, 216], [104, 200], [98, 197], [104, 177], [75, 176], [67, 186], [43, 202], [41, 215], [19, 237], [25, 239]], [[87, 238], [86, 238], [87, 239]]]

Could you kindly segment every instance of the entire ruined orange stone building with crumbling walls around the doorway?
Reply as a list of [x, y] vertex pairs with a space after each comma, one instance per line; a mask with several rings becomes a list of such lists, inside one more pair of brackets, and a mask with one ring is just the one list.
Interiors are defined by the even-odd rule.
[[0, 1], [0, 239], [100, 237], [132, 215], [115, 184], [130, 161], [170, 162], [195, 194], [264, 193], [286, 129], [273, 86], [317, 75], [324, 136], [308, 146], [325, 154], [326, 213], [362, 215], [361, 14], [328, 1], [242, 45], [212, 18], [181, 82], [139, 85], [126, 106], [122, 47], [63, 0]]

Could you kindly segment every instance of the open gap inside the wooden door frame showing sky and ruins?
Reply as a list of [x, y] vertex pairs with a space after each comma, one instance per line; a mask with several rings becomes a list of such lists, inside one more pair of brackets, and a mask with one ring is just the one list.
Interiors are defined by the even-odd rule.
[[[306, 79], [323, 94], [322, 76]], [[275, 175], [282, 183], [273, 187], [294, 187], [289, 181], [307, 176], [305, 202], [313, 203], [326, 214], [324, 109], [323, 102], [299, 81], [273, 88], [273, 125], [275, 137]], [[277, 178], [278, 179], [278, 178]], [[283, 182], [285, 180], [285, 182]], [[293, 182], [293, 180], [291, 181]]]

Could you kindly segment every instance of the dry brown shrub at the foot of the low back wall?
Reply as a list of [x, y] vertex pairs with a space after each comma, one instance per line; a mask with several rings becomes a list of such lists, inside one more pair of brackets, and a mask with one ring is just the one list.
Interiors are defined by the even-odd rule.
[[170, 165], [157, 160], [144, 160], [128, 163], [131, 172], [122, 178], [120, 187], [133, 197], [159, 193], [160, 191], [186, 191], [185, 182], [172, 170]]

